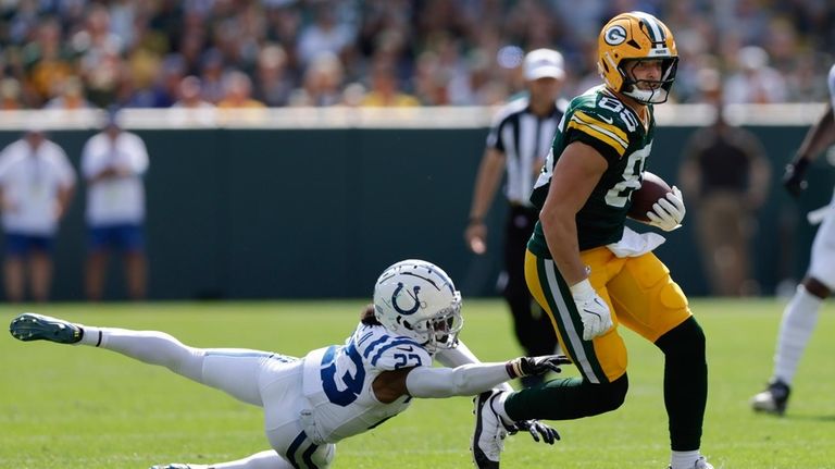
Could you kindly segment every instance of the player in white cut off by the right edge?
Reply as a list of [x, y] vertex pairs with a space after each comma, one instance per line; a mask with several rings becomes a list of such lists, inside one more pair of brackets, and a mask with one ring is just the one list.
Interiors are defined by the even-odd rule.
[[[786, 166], [783, 185], [789, 194], [798, 196], [807, 186], [809, 165], [831, 145], [835, 144], [835, 65], [828, 75], [831, 102], [826, 112], [806, 134], [797, 155]], [[774, 370], [768, 387], [751, 398], [757, 411], [783, 415], [786, 411], [792, 381], [800, 357], [809, 343], [823, 300], [835, 289], [835, 194], [814, 235], [809, 269], [797, 292], [783, 311], [774, 354]]]

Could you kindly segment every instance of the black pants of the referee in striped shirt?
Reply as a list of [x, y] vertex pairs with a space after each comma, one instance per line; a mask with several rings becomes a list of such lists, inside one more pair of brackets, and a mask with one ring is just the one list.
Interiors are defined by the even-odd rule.
[[537, 219], [536, 209], [511, 206], [504, 226], [504, 270], [508, 274], [504, 299], [513, 313], [516, 338], [529, 356], [550, 355], [557, 348], [551, 321], [531, 296], [525, 283], [525, 249]]

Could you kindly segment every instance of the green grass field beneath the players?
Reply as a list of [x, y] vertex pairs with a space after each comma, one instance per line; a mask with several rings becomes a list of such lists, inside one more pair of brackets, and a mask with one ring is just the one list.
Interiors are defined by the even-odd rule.
[[[341, 343], [361, 301], [49, 305], [78, 322], [166, 331], [199, 347], [303, 355]], [[784, 418], [747, 400], [771, 371], [778, 300], [696, 300], [708, 336], [710, 395], [702, 451], [716, 468], [834, 468], [835, 307], [821, 316]], [[20, 312], [0, 307], [3, 324]], [[483, 360], [520, 350], [499, 300], [464, 304], [462, 338]], [[630, 395], [614, 412], [556, 422], [562, 441], [508, 440], [506, 468], [665, 468], [662, 358], [630, 331]], [[573, 373], [572, 370], [568, 370]], [[0, 468], [147, 468], [217, 462], [267, 448], [259, 409], [167, 370], [91, 347], [0, 338]], [[469, 468], [469, 398], [418, 400], [384, 425], [337, 446], [335, 468]]]

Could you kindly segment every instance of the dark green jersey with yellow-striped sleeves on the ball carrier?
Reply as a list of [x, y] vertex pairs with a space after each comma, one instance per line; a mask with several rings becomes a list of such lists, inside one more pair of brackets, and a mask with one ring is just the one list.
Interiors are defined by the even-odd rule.
[[[649, 125], [645, 128], [635, 111], [601, 85], [574, 98], [557, 128], [551, 152], [531, 195], [534, 206], [543, 208], [553, 166], [573, 141], [594, 147], [609, 164], [577, 212], [581, 250], [616, 243], [623, 236], [632, 192], [640, 187], [644, 161], [652, 148], [656, 122], [651, 104], [648, 111]], [[541, 223], [536, 223], [527, 247], [537, 256], [550, 258]]]

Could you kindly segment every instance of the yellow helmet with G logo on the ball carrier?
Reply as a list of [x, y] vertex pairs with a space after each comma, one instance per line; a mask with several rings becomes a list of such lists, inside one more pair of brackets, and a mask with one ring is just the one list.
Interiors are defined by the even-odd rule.
[[[607, 87], [643, 103], [666, 101], [678, 65], [678, 50], [666, 25], [648, 13], [622, 13], [603, 26], [597, 42], [597, 67]], [[659, 59], [661, 79], [644, 81], [652, 86], [639, 89], [625, 65]]]

